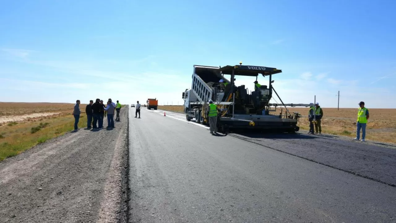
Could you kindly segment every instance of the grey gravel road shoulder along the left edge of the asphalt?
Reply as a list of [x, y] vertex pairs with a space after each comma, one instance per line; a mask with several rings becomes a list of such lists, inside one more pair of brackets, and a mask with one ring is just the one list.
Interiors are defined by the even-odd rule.
[[128, 108], [120, 117], [2, 161], [0, 222], [126, 222]]

